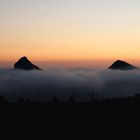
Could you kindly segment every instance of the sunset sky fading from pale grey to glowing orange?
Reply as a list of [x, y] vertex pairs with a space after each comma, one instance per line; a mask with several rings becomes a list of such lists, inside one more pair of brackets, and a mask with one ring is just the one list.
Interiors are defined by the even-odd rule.
[[27, 56], [140, 66], [139, 25], [139, 0], [0, 0], [0, 64]]

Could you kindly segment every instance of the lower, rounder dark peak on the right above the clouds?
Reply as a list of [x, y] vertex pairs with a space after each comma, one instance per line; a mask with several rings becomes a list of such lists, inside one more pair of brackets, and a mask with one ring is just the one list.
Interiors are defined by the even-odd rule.
[[134, 69], [138, 69], [137, 67], [122, 61], [122, 60], [117, 60], [116, 62], [114, 62], [109, 69], [113, 69], [113, 70], [134, 70]]

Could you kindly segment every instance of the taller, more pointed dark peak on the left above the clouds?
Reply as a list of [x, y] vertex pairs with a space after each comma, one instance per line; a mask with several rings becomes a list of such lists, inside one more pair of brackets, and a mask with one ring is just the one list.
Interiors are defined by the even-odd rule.
[[27, 57], [22, 57], [14, 64], [15, 69], [22, 70], [41, 70], [38, 66], [32, 64]]

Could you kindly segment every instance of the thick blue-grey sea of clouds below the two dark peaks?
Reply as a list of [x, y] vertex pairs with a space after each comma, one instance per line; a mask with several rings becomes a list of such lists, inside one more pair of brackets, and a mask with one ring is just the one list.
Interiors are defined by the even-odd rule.
[[140, 71], [48, 68], [43, 71], [0, 69], [0, 95], [11, 101], [20, 97], [51, 101], [56, 96], [67, 101], [133, 96], [140, 93]]

